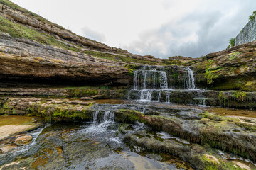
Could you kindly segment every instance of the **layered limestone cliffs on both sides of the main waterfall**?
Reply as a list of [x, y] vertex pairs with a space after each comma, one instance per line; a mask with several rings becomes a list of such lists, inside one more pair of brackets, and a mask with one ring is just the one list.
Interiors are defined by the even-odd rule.
[[[8, 0], [0, 0], [0, 86], [119, 86], [138, 65], [183, 65], [203, 89], [255, 91], [256, 42], [198, 59], [133, 55], [82, 38]], [[182, 70], [166, 67], [172, 84]]]

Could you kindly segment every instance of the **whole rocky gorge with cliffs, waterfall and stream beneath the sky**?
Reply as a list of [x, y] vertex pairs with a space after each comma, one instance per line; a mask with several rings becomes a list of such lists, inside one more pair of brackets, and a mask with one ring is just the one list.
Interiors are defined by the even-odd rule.
[[256, 42], [167, 60], [0, 20], [0, 170], [256, 169]]

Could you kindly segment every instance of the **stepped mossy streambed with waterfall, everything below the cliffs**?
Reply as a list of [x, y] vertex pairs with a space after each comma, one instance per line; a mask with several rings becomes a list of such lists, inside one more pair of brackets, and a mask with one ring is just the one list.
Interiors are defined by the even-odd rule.
[[1, 119], [44, 119], [1, 140], [0, 168], [256, 169], [254, 92], [196, 89], [189, 67], [178, 81], [139, 68], [132, 89], [0, 89]]

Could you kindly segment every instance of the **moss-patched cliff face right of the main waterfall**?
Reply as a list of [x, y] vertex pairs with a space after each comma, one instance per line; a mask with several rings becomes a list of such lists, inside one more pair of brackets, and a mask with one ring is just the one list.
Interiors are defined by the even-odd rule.
[[256, 42], [210, 53], [191, 64], [198, 86], [208, 89], [256, 90]]

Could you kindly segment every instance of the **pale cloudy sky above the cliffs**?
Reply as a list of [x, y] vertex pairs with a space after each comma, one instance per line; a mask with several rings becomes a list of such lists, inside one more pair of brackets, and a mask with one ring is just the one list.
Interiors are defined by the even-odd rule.
[[138, 55], [201, 57], [225, 50], [255, 0], [12, 0], [78, 35]]

